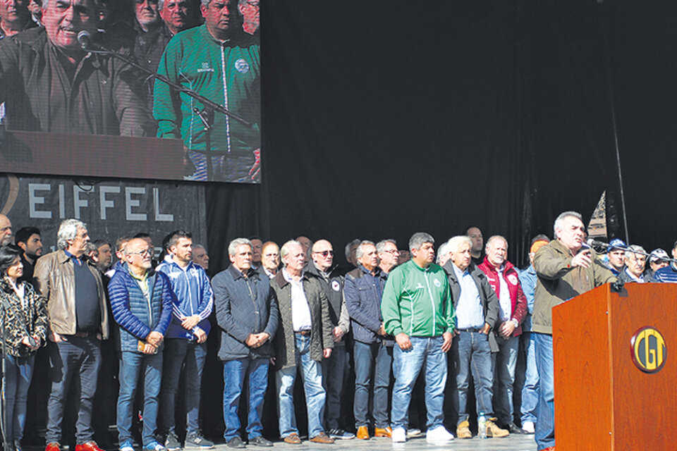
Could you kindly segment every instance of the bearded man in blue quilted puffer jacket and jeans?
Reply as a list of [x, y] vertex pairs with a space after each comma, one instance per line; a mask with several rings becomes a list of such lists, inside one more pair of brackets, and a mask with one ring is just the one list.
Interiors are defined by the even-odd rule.
[[164, 451], [154, 438], [162, 376], [162, 342], [171, 319], [169, 278], [153, 271], [152, 250], [141, 238], [126, 245], [125, 263], [108, 284], [111, 309], [120, 325], [120, 395], [117, 426], [120, 451], [134, 451], [132, 414], [139, 374], [143, 376], [143, 447]]

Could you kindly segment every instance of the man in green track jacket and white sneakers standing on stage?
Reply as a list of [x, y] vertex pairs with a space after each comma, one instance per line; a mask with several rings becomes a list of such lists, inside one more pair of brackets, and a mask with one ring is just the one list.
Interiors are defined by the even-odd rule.
[[456, 316], [451, 304], [449, 281], [437, 264], [434, 238], [415, 233], [409, 240], [412, 259], [395, 268], [384, 289], [381, 312], [386, 333], [394, 335], [395, 385], [391, 409], [393, 442], [406, 440], [411, 391], [425, 365], [427, 439], [433, 443], [452, 440], [442, 426], [446, 352]]

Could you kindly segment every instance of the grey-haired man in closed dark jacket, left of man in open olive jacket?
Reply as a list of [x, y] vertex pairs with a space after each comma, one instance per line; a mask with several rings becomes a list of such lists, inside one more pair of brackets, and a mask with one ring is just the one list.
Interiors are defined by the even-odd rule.
[[224, 438], [228, 447], [245, 447], [238, 407], [248, 376], [249, 444], [272, 446], [261, 435], [261, 415], [279, 311], [268, 278], [252, 269], [251, 242], [246, 238], [231, 241], [228, 256], [231, 266], [212, 280], [216, 321], [222, 332], [219, 358], [224, 361]]

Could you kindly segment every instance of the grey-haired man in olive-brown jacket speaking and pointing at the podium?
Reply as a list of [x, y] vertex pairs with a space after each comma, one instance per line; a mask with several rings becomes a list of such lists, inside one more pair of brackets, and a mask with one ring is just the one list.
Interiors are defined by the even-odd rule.
[[532, 317], [540, 383], [535, 435], [538, 450], [555, 447], [552, 307], [616, 281], [609, 268], [584, 245], [585, 226], [579, 213], [565, 211], [557, 216], [554, 232], [557, 239], [541, 247], [534, 257], [538, 276]]

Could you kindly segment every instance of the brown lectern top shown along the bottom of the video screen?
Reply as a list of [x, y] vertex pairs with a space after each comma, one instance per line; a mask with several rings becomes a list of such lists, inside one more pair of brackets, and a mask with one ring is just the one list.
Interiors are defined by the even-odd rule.
[[0, 145], [0, 172], [183, 180], [183, 142], [8, 131]]

